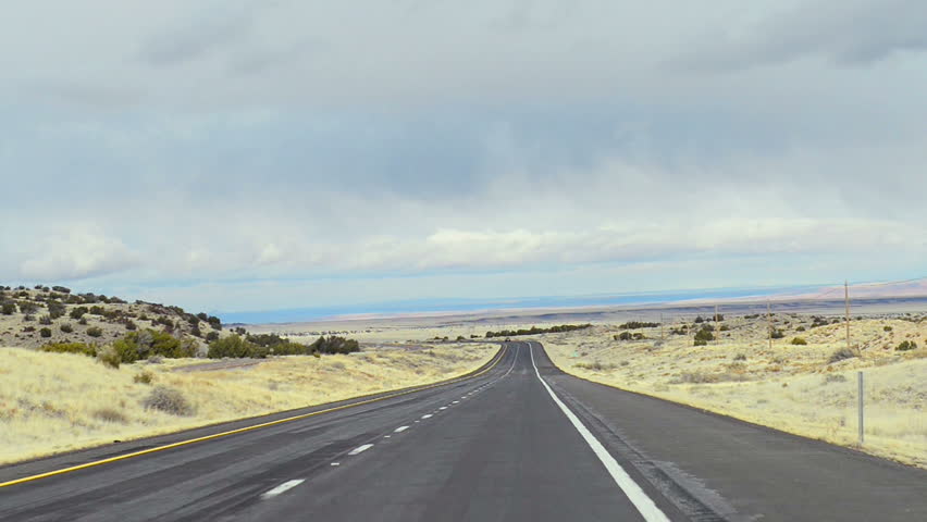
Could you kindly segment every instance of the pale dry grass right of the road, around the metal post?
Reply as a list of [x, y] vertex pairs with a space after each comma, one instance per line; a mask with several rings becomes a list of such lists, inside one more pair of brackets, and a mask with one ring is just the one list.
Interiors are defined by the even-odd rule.
[[[771, 349], [765, 320], [744, 319], [727, 321], [730, 331], [720, 340], [700, 347], [692, 346], [691, 335], [669, 335], [669, 327], [665, 343], [617, 341], [613, 326], [539, 340], [559, 368], [578, 376], [845, 446], [856, 444], [862, 370], [862, 449], [927, 468], [927, 321], [854, 321], [854, 357], [846, 358], [832, 357], [843, 347], [842, 324], [808, 328], [806, 318], [777, 321], [786, 335]], [[659, 337], [656, 328], [645, 332]], [[796, 332], [807, 345], [790, 343]], [[904, 339], [922, 348], [897, 351]]]

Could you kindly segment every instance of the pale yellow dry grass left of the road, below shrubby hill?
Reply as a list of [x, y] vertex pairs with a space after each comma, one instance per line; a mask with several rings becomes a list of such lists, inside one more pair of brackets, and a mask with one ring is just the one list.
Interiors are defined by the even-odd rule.
[[[433, 383], [479, 368], [497, 349], [293, 356], [187, 373], [172, 369], [199, 361], [110, 369], [85, 356], [0, 348], [0, 463]], [[150, 380], [138, 378], [146, 373]]]

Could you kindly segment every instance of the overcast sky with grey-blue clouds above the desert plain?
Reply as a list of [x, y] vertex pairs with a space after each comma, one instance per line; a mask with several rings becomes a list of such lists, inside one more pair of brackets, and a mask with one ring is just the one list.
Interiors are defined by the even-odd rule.
[[7, 284], [240, 311], [927, 272], [923, 0], [35, 0], [0, 64]]

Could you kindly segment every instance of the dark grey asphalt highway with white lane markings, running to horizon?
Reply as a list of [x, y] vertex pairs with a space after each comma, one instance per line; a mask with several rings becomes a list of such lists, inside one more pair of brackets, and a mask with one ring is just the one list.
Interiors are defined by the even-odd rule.
[[0, 520], [920, 521], [927, 472], [589, 383], [511, 343], [467, 381], [0, 487]]

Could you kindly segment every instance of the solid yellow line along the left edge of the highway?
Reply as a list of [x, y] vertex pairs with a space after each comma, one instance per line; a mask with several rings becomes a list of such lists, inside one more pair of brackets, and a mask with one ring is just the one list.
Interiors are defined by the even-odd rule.
[[[313, 411], [313, 412], [310, 412], [310, 413], [302, 413], [301, 415], [287, 417], [285, 419], [277, 419], [275, 421], [263, 422], [261, 424], [255, 424], [252, 426], [245, 426], [245, 427], [239, 427], [237, 430], [230, 430], [227, 432], [215, 433], [215, 434], [212, 434], [212, 435], [206, 435], [206, 436], [197, 437], [197, 438], [190, 438], [188, 440], [181, 440], [178, 443], [165, 444], [164, 446], [158, 446], [158, 447], [154, 447], [154, 448], [143, 449], [140, 451], [134, 451], [132, 453], [120, 455], [118, 457], [110, 457], [109, 459], [95, 460], [92, 462], [87, 462], [87, 463], [84, 463], [84, 464], [72, 465], [71, 468], [62, 468], [60, 470], [48, 471], [46, 473], [39, 473], [37, 475], [24, 476], [22, 478], [16, 478], [14, 481], [0, 482], [0, 487], [14, 486], [16, 484], [22, 484], [24, 482], [33, 482], [33, 481], [38, 481], [40, 478], [48, 478], [49, 476], [62, 475], [64, 473], [71, 473], [72, 471], [85, 470], [87, 468], [94, 468], [94, 467], [97, 467], [97, 465], [108, 464], [110, 462], [116, 462], [116, 461], [120, 461], [120, 460], [131, 459], [131, 458], [134, 458], [134, 457], [140, 457], [143, 455], [153, 453], [153, 452], [157, 452], [157, 451], [164, 451], [166, 449], [178, 448], [181, 446], [187, 446], [187, 445], [194, 444], [194, 443], [201, 443], [203, 440], [212, 440], [214, 438], [226, 437], [228, 435], [235, 435], [237, 433], [250, 432], [252, 430], [258, 430], [258, 428], [261, 428], [261, 427], [275, 426], [277, 424], [283, 424], [285, 422], [293, 422], [293, 421], [298, 421], [298, 420], [301, 420], [301, 419], [308, 419], [310, 417], [321, 415], [322, 413], [331, 413], [333, 411], [345, 410], [347, 408], [354, 408], [356, 406], [369, 405], [371, 402], [378, 402], [378, 401], [381, 401], [381, 400], [392, 399], [394, 397], [401, 397], [404, 395], [415, 394], [416, 391], [422, 391], [422, 390], [425, 390], [425, 389], [436, 388], [436, 387], [440, 387], [440, 386], [447, 386], [448, 384], [459, 383], [461, 381], [466, 381], [466, 380], [469, 380], [469, 378], [479, 377], [480, 375], [482, 375], [482, 374], [489, 372], [490, 370], [492, 370], [493, 368], [495, 368], [496, 364], [498, 364], [499, 361], [503, 359], [503, 356], [505, 355], [505, 351], [506, 351], [507, 348], [508, 347], [506, 345], [503, 345], [502, 348], [499, 348], [499, 351], [496, 352], [495, 362], [493, 362], [485, 370], [483, 370], [479, 373], [474, 373], [472, 375], [465, 375], [462, 377], [457, 377], [457, 378], [454, 378], [454, 380], [450, 380], [450, 381], [445, 381], [443, 383], [429, 384], [429, 385], [424, 385], [422, 387], [417, 387], [415, 389], [407, 389], [405, 391], [399, 391], [399, 393], [392, 394], [392, 395], [385, 395], [383, 397], [376, 397], [374, 399], [362, 400], [362, 401], [359, 401], [359, 402], [351, 402], [350, 405], [336, 406], [334, 408], [327, 408], [327, 409], [324, 409], [324, 410]], [[347, 399], [347, 400], [350, 400], [350, 399]], [[231, 421], [231, 422], [234, 422], [234, 421]]]

